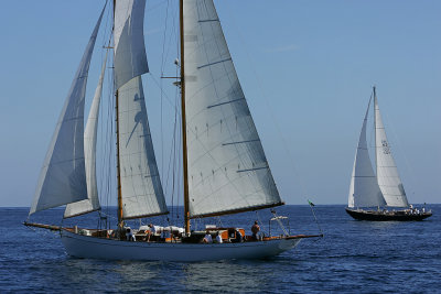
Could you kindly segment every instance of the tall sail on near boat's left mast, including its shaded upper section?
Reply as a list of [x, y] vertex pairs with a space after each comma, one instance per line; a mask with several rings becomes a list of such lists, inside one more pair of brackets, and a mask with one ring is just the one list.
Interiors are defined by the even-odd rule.
[[146, 0], [128, 0], [116, 1], [115, 8], [115, 83], [123, 219], [168, 214], [140, 77], [149, 72], [143, 43], [144, 7]]

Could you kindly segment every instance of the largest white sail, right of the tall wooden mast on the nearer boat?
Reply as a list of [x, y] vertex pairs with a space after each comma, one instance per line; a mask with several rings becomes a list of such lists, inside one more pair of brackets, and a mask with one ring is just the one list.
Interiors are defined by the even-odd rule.
[[191, 217], [281, 205], [213, 1], [183, 13]]

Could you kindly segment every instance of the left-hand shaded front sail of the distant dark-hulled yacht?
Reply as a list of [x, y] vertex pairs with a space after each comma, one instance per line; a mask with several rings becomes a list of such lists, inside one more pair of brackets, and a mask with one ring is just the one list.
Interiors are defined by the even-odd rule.
[[352, 171], [348, 207], [385, 206], [386, 202], [379, 189], [377, 177], [370, 163], [369, 151], [366, 142], [366, 124], [369, 113], [370, 100], [367, 106], [365, 119], [357, 151], [355, 152], [354, 168]]

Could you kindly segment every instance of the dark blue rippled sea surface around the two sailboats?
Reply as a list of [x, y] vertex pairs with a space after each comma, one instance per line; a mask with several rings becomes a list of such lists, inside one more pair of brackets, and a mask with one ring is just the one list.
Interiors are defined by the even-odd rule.
[[[434, 215], [423, 221], [369, 222], [353, 220], [343, 205], [315, 206], [324, 238], [303, 240], [297, 249], [266, 260], [194, 263], [71, 258], [56, 232], [22, 225], [28, 208], [0, 208], [0, 292], [441, 293], [441, 205], [427, 207]], [[277, 210], [289, 216], [291, 233], [320, 232], [309, 206]], [[60, 225], [62, 214], [54, 209], [32, 220]], [[268, 231], [270, 217], [269, 211], [247, 213], [222, 221], [249, 232], [259, 218]], [[97, 227], [96, 214], [69, 221]], [[133, 228], [138, 225], [132, 222]]]

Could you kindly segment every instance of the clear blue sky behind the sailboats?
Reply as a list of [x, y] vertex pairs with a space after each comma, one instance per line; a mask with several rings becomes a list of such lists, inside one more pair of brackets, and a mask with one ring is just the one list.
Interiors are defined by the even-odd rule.
[[[178, 8], [176, 0], [169, 2], [168, 37]], [[166, 3], [148, 0], [146, 14], [149, 64], [158, 79]], [[305, 204], [306, 198], [318, 204], [347, 202], [355, 148], [374, 84], [409, 200], [440, 203], [441, 1], [215, 3], [276, 183], [288, 204]], [[2, 3], [0, 206], [30, 206], [57, 117], [103, 4], [103, 0]], [[104, 40], [100, 34], [97, 47]], [[173, 75], [175, 42], [169, 47], [166, 74]], [[99, 50], [93, 58], [88, 104], [101, 56]], [[146, 79], [157, 157], [162, 157], [170, 138], [164, 134], [164, 146], [157, 143], [160, 94], [149, 75]], [[163, 106], [164, 117], [172, 113], [166, 101]], [[164, 132], [171, 120], [163, 120]]]

